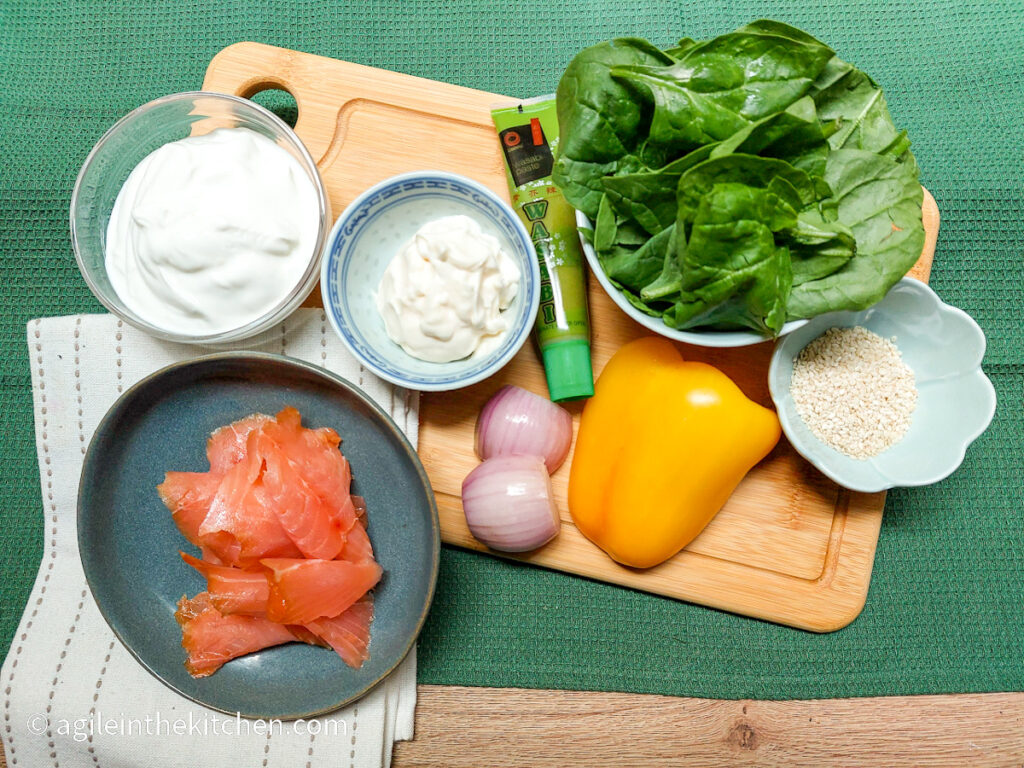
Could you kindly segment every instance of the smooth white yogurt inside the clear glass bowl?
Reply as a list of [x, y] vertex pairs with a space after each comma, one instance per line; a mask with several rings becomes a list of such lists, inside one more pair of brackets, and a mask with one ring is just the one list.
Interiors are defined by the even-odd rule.
[[255, 131], [219, 128], [165, 144], [131, 172], [106, 227], [106, 273], [154, 326], [221, 333], [291, 293], [318, 226], [298, 160]]

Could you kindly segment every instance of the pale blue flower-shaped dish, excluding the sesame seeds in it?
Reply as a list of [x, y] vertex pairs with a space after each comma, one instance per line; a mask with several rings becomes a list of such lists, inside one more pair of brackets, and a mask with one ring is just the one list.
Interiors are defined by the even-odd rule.
[[[895, 339], [913, 371], [918, 407], [903, 438], [878, 456], [851, 459], [815, 437], [790, 394], [794, 359], [829, 328], [861, 326]], [[904, 278], [874, 306], [860, 312], [829, 312], [780, 339], [768, 369], [782, 431], [801, 456], [853, 490], [873, 493], [899, 485], [929, 485], [950, 475], [992, 421], [995, 390], [981, 371], [985, 334], [967, 312]]]

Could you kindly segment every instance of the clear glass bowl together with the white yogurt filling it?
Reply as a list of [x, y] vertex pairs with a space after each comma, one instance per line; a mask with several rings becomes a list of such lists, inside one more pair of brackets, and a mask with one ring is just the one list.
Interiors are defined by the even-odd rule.
[[237, 341], [309, 294], [331, 221], [316, 165], [272, 113], [177, 93], [116, 123], [72, 196], [79, 268], [112, 312], [153, 336]]

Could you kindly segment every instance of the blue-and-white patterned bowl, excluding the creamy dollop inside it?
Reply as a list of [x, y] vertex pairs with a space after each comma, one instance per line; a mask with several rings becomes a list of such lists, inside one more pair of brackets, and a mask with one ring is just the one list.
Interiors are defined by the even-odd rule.
[[[475, 219], [515, 259], [519, 294], [502, 313], [509, 331], [494, 351], [427, 362], [391, 341], [374, 297], [388, 263], [416, 230], [456, 214]], [[459, 389], [500, 371], [529, 337], [540, 289], [534, 244], [515, 211], [482, 184], [443, 171], [392, 176], [352, 201], [328, 237], [321, 270], [324, 308], [341, 340], [369, 371], [408, 389]]]

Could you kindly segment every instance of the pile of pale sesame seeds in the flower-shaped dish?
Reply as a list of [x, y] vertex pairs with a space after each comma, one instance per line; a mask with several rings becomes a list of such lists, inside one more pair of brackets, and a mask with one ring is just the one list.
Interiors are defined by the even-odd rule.
[[804, 347], [790, 382], [797, 413], [825, 444], [853, 459], [902, 439], [918, 404], [899, 349], [865, 328], [830, 328]]

